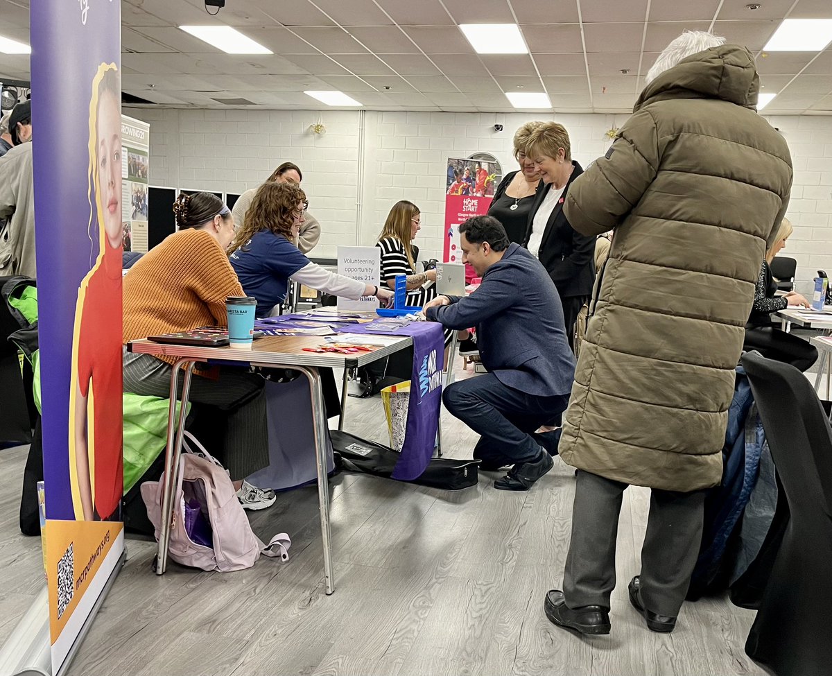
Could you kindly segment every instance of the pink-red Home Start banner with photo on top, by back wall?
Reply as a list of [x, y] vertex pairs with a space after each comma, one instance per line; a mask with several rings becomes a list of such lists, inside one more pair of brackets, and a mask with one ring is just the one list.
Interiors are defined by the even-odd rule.
[[[503, 178], [501, 171], [497, 162], [448, 158], [442, 257], [444, 262], [463, 261], [463, 253], [459, 248], [458, 226], [471, 216], [483, 216], [488, 213], [494, 191]], [[466, 278], [470, 276], [473, 276], [473, 270], [466, 269]]]

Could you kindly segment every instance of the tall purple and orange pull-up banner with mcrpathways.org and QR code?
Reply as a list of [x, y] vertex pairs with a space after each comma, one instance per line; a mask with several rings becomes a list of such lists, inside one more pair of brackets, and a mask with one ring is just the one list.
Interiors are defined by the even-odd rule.
[[32, 127], [52, 674], [124, 550], [121, 7], [31, 8]]

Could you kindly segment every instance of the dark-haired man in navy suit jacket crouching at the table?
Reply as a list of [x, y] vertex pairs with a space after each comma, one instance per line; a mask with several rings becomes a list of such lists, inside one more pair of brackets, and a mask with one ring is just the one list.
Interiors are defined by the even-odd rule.
[[483, 283], [467, 297], [437, 296], [423, 311], [449, 329], [477, 326], [488, 374], [453, 383], [443, 401], [480, 435], [473, 456], [483, 470], [513, 465], [494, 488], [528, 490], [553, 464], [535, 430], [559, 424], [575, 375], [561, 299], [540, 261], [510, 244], [493, 216], [469, 218], [459, 236], [463, 261]]

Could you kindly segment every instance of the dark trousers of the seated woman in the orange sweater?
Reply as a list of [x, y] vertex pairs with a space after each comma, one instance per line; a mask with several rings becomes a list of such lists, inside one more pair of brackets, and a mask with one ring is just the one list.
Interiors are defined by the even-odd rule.
[[[153, 355], [137, 355], [126, 350], [124, 356], [124, 391], [135, 395], [171, 394], [171, 369], [166, 361]], [[182, 396], [182, 376], [179, 397]], [[214, 406], [225, 415], [225, 433], [220, 451], [201, 440], [215, 453], [231, 475], [244, 479], [269, 465], [269, 430], [265, 418], [265, 380], [263, 376], [232, 366], [220, 366], [217, 380], [201, 375], [191, 378], [188, 399], [195, 404]]]

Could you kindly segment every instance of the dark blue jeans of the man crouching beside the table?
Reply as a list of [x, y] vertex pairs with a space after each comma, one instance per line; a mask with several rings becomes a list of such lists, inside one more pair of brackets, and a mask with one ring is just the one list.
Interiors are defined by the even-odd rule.
[[535, 435], [534, 430], [559, 423], [569, 395], [529, 395], [487, 373], [453, 383], [442, 400], [451, 415], [480, 435], [473, 457], [501, 466], [534, 460], [541, 447], [549, 450], [548, 435]]

